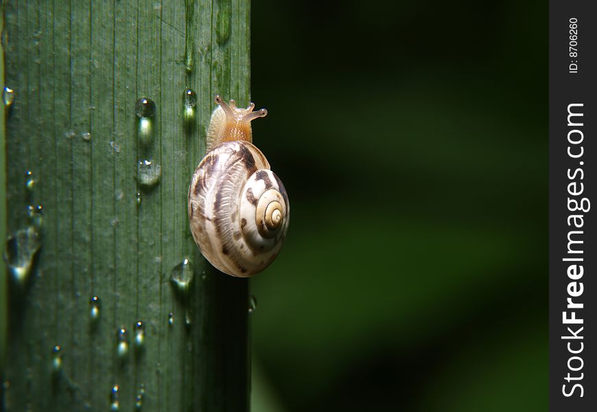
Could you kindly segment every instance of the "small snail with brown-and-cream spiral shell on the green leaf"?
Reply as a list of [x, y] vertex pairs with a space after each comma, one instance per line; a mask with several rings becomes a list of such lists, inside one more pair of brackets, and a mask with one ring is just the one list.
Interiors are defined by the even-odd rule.
[[288, 229], [284, 185], [252, 143], [250, 122], [265, 117], [255, 104], [237, 108], [215, 95], [207, 154], [189, 185], [191, 233], [202, 255], [237, 277], [263, 271], [278, 255]]

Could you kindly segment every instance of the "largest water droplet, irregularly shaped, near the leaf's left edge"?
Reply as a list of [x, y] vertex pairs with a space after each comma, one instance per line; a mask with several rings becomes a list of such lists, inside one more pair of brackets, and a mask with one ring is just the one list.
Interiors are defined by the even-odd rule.
[[8, 238], [5, 260], [17, 284], [23, 286], [27, 282], [40, 246], [39, 235], [33, 227], [19, 229]]

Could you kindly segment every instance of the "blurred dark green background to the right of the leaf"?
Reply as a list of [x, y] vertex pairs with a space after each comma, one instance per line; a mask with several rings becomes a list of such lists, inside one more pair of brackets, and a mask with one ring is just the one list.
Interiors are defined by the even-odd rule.
[[548, 5], [253, 0], [292, 204], [254, 411], [546, 411]]

